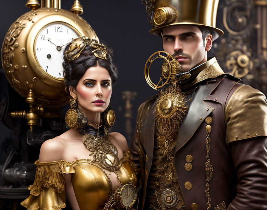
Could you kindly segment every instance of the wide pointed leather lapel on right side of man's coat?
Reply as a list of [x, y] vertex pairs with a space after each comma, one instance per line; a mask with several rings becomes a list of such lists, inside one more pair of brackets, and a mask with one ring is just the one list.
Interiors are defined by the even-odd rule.
[[193, 99], [189, 105], [187, 115], [181, 123], [178, 137], [176, 140], [175, 152], [184, 146], [185, 143], [194, 135], [200, 124], [214, 110], [203, 100], [206, 98], [220, 83], [221, 79], [217, 79], [215, 83], [204, 84], [198, 87]]

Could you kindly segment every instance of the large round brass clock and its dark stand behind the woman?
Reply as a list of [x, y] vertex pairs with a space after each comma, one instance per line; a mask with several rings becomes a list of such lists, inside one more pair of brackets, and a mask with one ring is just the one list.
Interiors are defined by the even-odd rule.
[[[38, 159], [41, 144], [66, 129], [63, 106], [69, 102], [69, 94], [62, 67], [65, 46], [79, 36], [98, 40], [91, 26], [79, 16], [83, 7], [78, 0], [70, 11], [61, 9], [60, 0], [25, 3], [31, 10], [10, 26], [1, 48], [7, 81], [28, 105], [8, 113], [16, 127], [8, 142], [12, 149], [6, 149], [7, 159], [0, 165], [0, 199], [28, 196], [27, 186], [34, 180], [33, 162]], [[14, 104], [15, 110], [24, 105]], [[27, 125], [18, 118], [25, 118]]]

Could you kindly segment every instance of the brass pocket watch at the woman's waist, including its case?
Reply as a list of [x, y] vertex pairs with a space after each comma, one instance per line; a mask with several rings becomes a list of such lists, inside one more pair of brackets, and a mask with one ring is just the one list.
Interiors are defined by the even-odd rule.
[[121, 204], [124, 208], [130, 208], [137, 199], [137, 191], [132, 184], [120, 186], [114, 193], [114, 200]]

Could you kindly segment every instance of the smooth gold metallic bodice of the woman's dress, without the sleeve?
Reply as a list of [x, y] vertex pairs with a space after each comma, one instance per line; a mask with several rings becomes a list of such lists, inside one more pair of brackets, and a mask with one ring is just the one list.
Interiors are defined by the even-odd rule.
[[[136, 185], [137, 179], [129, 161], [121, 162], [116, 171], [121, 185], [131, 183], [131, 180]], [[108, 175], [92, 160], [76, 160], [72, 166], [75, 170], [72, 186], [80, 210], [103, 210], [112, 192]]]

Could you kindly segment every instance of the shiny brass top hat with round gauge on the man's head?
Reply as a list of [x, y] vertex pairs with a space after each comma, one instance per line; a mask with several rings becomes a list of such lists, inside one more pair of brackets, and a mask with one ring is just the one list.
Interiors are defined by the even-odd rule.
[[209, 28], [212, 38], [223, 35], [216, 28], [219, 0], [142, 0], [153, 26], [150, 33], [160, 36], [160, 29], [172, 25], [194, 25]]

